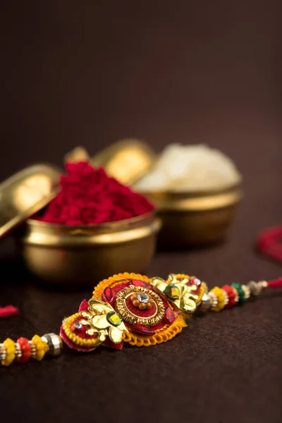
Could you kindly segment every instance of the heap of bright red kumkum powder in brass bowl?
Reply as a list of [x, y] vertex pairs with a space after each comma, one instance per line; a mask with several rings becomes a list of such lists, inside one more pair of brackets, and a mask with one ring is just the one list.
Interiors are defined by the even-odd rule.
[[64, 225], [97, 225], [147, 214], [154, 209], [143, 195], [93, 168], [86, 161], [66, 164], [61, 191], [52, 200], [40, 221]]

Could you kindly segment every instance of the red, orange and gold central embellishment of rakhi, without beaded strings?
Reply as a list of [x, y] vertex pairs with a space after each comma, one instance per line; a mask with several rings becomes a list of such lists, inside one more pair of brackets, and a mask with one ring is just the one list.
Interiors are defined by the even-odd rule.
[[123, 343], [163, 343], [182, 331], [204, 292], [197, 278], [182, 274], [171, 274], [166, 281], [133, 273], [114, 275], [94, 288], [78, 313], [63, 320], [61, 337], [80, 351], [102, 344], [121, 349]]

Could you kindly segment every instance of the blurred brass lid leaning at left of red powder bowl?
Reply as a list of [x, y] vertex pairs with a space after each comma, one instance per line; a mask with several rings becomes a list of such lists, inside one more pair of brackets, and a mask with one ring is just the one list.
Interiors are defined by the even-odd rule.
[[46, 206], [58, 191], [61, 170], [28, 166], [0, 185], [0, 238]]

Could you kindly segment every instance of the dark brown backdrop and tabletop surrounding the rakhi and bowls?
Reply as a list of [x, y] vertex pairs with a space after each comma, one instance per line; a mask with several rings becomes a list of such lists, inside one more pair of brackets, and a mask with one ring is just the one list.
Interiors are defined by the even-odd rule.
[[[148, 274], [188, 271], [210, 286], [280, 276], [281, 265], [254, 250], [257, 233], [282, 216], [279, 4], [2, 1], [1, 179], [35, 161], [61, 164], [75, 145], [94, 154], [119, 137], [159, 150], [207, 142], [245, 176], [229, 240], [159, 253]], [[1, 339], [58, 331], [90, 297], [30, 286], [11, 240], [0, 255], [0, 302], [20, 307], [20, 317], [1, 321]], [[269, 293], [195, 319], [155, 348], [66, 352], [1, 369], [1, 413], [42, 423], [281, 422], [281, 306], [281, 292]]]

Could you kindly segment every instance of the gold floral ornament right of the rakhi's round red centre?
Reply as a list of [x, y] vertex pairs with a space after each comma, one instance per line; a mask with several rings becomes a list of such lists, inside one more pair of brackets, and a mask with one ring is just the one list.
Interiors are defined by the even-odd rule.
[[170, 274], [165, 281], [162, 278], [152, 278], [152, 286], [170, 298], [176, 307], [183, 312], [193, 313], [197, 307], [198, 295], [196, 285], [188, 285], [189, 276], [178, 278], [176, 274]]

